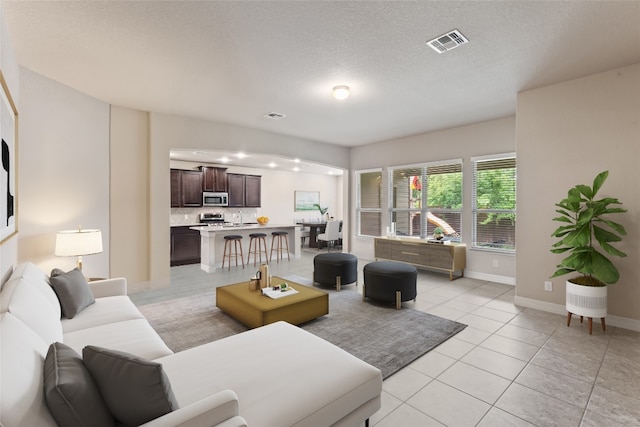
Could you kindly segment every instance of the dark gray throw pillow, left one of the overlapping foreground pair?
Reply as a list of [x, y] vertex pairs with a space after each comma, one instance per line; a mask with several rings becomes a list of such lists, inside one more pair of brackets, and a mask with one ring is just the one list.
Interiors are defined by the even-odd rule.
[[80, 355], [56, 342], [44, 360], [44, 396], [58, 425], [113, 427], [115, 421]]

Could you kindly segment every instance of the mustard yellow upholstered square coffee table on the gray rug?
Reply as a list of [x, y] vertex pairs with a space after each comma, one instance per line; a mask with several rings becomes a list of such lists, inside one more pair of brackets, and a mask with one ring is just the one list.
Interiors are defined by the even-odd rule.
[[329, 294], [299, 283], [272, 277], [271, 284], [288, 283], [297, 294], [272, 299], [260, 289], [249, 290], [249, 282], [216, 288], [216, 307], [249, 328], [280, 320], [299, 325], [329, 314]]

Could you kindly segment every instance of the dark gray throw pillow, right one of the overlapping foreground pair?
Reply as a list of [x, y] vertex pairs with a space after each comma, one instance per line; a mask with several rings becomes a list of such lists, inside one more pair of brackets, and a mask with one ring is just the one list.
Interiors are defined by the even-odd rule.
[[82, 358], [121, 423], [137, 426], [178, 409], [161, 364], [92, 345], [82, 350]]

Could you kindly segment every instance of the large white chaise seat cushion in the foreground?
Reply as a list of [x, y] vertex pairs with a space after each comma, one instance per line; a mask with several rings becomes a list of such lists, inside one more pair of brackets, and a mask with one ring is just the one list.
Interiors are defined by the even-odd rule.
[[286, 322], [157, 361], [181, 407], [231, 389], [248, 425], [333, 425], [372, 400], [379, 407], [382, 390], [380, 370]]

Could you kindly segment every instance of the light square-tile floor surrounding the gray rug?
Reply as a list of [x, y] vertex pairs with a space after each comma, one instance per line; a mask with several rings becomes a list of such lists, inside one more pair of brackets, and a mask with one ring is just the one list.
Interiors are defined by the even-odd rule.
[[[304, 250], [270, 272], [311, 278], [317, 253]], [[370, 261], [358, 261], [359, 283]], [[170, 288], [131, 298], [143, 305], [195, 295], [255, 270], [173, 267]], [[640, 333], [596, 324], [589, 336], [586, 322], [568, 328], [564, 316], [514, 305], [514, 294], [512, 286], [419, 270], [418, 298], [403, 307], [468, 327], [384, 381], [371, 425], [640, 426]]]

